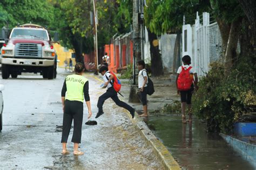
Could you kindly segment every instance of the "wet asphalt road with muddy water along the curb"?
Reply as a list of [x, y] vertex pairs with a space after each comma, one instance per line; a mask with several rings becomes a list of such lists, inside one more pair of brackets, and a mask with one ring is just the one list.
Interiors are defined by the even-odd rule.
[[[0, 133], [0, 169], [162, 169], [152, 149], [122, 108], [111, 100], [104, 105], [105, 114], [98, 125], [88, 126], [84, 104], [82, 128], [82, 156], [62, 155], [60, 143], [62, 104], [60, 91], [66, 73], [60, 69], [57, 79], [42, 76], [18, 76], [0, 79], [5, 85], [3, 130]], [[105, 90], [92, 74], [85, 74], [90, 82], [93, 118], [97, 113], [97, 99]], [[70, 142], [68, 148], [72, 152]]]

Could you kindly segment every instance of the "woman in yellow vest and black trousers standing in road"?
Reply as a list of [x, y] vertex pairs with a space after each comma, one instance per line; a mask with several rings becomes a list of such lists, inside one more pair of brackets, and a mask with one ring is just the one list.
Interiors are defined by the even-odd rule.
[[91, 117], [91, 103], [89, 96], [89, 81], [82, 76], [84, 66], [82, 63], [75, 65], [76, 74], [67, 76], [62, 87], [62, 105], [63, 105], [63, 130], [62, 130], [62, 154], [69, 154], [66, 148], [69, 132], [74, 121], [72, 142], [74, 143], [74, 155], [84, 154], [78, 151], [78, 145], [81, 143], [82, 124], [83, 124], [83, 102], [85, 99], [88, 108], [88, 119]]

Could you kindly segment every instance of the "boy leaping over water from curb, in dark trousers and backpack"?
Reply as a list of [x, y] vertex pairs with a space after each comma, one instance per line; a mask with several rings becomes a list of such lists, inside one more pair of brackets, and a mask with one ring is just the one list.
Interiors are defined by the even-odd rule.
[[126, 110], [128, 110], [131, 115], [132, 118], [134, 118], [134, 113], [135, 110], [134, 108], [132, 108], [130, 105], [124, 103], [124, 101], [121, 101], [118, 96], [117, 96], [117, 91], [114, 89], [114, 84], [116, 83], [115, 79], [115, 75], [113, 75], [112, 72], [109, 71], [109, 69], [107, 69], [107, 67], [105, 65], [101, 66], [99, 69], [99, 73], [102, 74], [103, 76], [103, 80], [104, 80], [104, 86], [107, 88], [107, 91], [102, 94], [102, 96], [99, 97], [98, 100], [98, 104], [97, 107], [99, 109], [96, 118], [100, 117], [100, 115], [104, 114], [103, 112], [103, 104], [105, 102], [106, 99], [111, 98], [114, 103], [116, 103], [118, 106], [125, 108]]

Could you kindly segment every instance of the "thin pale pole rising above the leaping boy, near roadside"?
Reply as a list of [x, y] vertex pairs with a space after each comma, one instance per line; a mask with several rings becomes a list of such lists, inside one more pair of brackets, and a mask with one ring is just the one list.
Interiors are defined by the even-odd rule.
[[[95, 56], [95, 67], [98, 70], [98, 36], [97, 36], [97, 24], [98, 24], [98, 16], [96, 12], [96, 0], [93, 1], [93, 13], [94, 13], [94, 25], [93, 25], [93, 40], [94, 40], [94, 56]], [[98, 71], [96, 71], [98, 73]]]

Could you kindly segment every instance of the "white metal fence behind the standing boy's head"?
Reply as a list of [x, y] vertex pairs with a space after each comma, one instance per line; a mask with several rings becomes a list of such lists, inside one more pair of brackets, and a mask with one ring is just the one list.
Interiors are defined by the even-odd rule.
[[183, 45], [183, 56], [190, 55], [194, 70], [199, 76], [205, 76], [205, 73], [210, 70], [210, 63], [217, 60], [223, 61], [222, 39], [219, 26], [216, 22], [210, 24], [210, 14], [204, 12], [203, 20], [197, 13], [193, 26], [189, 24], [183, 25], [183, 32], [187, 32], [187, 30], [193, 31], [190, 31], [190, 35], [184, 37], [187, 40], [183, 38], [183, 44], [191, 42], [191, 44], [187, 44], [191, 49], [189, 50], [188, 48], [185, 51], [185, 45]]

